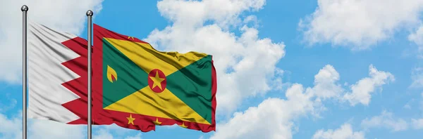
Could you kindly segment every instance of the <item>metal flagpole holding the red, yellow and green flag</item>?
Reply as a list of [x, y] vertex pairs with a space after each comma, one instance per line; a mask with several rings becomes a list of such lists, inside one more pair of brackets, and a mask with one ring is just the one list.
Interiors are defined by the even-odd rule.
[[91, 41], [92, 41], [92, 11], [87, 11], [87, 18], [88, 18], [88, 44], [87, 44], [87, 50], [88, 50], [88, 139], [91, 139], [92, 131], [91, 131], [91, 120], [92, 120], [92, 114], [91, 114]]

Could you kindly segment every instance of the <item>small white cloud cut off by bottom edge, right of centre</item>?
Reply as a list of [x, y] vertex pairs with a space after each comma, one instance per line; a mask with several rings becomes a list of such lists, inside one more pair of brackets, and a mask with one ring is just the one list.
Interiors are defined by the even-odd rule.
[[353, 131], [350, 124], [343, 124], [335, 130], [324, 131], [321, 129], [314, 133], [313, 139], [364, 139], [364, 132]]

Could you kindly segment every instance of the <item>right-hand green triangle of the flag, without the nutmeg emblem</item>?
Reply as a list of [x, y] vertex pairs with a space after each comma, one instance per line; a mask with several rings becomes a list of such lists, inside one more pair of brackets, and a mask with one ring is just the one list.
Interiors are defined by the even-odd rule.
[[212, 55], [168, 75], [169, 91], [212, 123]]

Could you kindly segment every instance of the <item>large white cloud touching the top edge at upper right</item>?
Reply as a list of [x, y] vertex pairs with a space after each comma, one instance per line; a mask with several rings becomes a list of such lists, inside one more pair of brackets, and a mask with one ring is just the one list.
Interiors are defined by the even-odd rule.
[[318, 0], [316, 11], [300, 20], [299, 27], [309, 44], [363, 50], [399, 29], [417, 27], [422, 11], [423, 0]]

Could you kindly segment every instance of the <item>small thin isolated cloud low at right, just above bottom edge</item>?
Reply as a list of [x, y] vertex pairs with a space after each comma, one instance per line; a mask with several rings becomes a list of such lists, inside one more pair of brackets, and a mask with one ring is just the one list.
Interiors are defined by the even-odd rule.
[[391, 129], [391, 131], [405, 131], [408, 128], [407, 121], [393, 117], [391, 112], [386, 111], [383, 111], [381, 115], [364, 119], [361, 124], [366, 129], [383, 127]]

